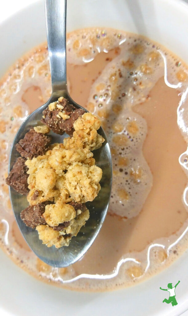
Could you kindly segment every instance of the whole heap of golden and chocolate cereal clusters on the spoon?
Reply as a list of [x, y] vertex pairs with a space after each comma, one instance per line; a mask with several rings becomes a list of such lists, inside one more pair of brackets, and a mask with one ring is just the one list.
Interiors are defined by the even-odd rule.
[[[97, 196], [102, 177], [91, 150], [104, 139], [97, 133], [100, 120], [63, 97], [43, 111], [41, 121], [45, 125], [31, 129], [16, 145], [24, 158], [18, 158], [7, 183], [27, 194], [30, 205], [21, 212], [22, 221], [37, 229], [43, 244], [59, 248], [68, 246], [89, 218], [84, 203]], [[45, 135], [50, 130], [71, 137], [50, 145]]]

